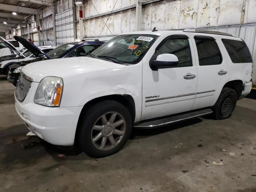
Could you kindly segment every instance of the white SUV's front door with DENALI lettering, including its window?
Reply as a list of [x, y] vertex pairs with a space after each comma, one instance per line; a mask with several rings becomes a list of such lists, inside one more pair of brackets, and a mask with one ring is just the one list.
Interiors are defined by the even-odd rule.
[[[191, 110], [197, 86], [197, 68], [191, 50], [188, 36], [168, 36], [156, 47], [152, 58], [143, 60], [142, 120]], [[166, 53], [176, 55], [178, 65], [152, 70], [149, 61]]]

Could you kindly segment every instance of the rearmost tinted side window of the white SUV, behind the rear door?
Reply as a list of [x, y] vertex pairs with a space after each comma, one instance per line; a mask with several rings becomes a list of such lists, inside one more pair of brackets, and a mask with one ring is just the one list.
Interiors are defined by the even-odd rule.
[[244, 41], [222, 39], [233, 63], [252, 63], [252, 56]]

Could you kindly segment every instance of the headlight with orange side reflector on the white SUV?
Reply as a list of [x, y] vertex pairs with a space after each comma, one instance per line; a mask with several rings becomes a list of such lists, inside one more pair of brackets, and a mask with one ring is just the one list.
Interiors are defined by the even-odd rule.
[[62, 88], [62, 78], [45, 77], [38, 85], [34, 102], [44, 106], [60, 106]]

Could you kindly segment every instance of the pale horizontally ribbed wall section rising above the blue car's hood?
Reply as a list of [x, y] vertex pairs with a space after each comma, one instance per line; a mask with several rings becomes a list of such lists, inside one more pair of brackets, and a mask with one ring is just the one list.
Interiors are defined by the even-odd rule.
[[57, 46], [74, 42], [74, 18], [72, 0], [58, 0], [55, 3]]

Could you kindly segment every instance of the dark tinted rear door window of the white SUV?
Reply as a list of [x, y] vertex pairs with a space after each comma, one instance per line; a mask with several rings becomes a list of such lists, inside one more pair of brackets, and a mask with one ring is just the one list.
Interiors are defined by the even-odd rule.
[[222, 56], [218, 44], [213, 38], [195, 36], [199, 65], [219, 65], [222, 63]]

